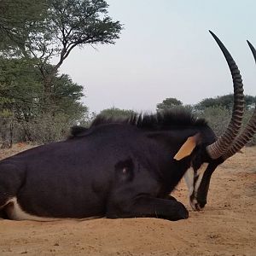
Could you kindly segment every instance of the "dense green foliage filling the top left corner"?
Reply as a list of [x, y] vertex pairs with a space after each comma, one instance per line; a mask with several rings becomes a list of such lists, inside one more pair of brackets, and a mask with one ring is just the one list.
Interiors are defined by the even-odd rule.
[[47, 1], [1, 0], [0, 49], [4, 55], [28, 55], [28, 45], [47, 32], [42, 22], [46, 17]]

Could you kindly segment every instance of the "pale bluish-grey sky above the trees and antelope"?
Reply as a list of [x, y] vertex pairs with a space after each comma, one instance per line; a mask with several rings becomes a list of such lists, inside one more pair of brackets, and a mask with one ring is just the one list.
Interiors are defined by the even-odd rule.
[[245, 94], [256, 96], [255, 0], [107, 0], [124, 24], [114, 45], [75, 49], [61, 67], [84, 86], [90, 111], [155, 111], [176, 97], [195, 104], [232, 92], [230, 71], [208, 30], [215, 32], [241, 70]]

